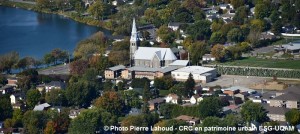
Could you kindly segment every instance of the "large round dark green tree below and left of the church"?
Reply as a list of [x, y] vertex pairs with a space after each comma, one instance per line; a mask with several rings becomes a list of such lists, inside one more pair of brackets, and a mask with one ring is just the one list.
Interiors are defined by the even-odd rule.
[[66, 90], [68, 103], [73, 106], [88, 107], [96, 96], [95, 84], [88, 81], [71, 82]]

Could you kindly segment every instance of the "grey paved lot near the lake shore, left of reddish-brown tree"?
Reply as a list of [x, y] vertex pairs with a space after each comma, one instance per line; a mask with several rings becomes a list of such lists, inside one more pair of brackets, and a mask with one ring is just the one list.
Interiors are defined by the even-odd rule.
[[51, 75], [51, 74], [70, 74], [69, 64], [62, 64], [55, 67], [50, 67], [47, 69], [41, 69], [38, 71], [39, 74]]

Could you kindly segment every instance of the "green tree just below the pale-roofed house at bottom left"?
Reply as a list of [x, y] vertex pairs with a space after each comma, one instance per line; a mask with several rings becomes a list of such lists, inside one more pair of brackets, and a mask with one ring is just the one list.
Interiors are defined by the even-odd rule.
[[23, 117], [24, 133], [41, 133], [45, 128], [47, 119], [47, 114], [44, 111], [27, 111]]

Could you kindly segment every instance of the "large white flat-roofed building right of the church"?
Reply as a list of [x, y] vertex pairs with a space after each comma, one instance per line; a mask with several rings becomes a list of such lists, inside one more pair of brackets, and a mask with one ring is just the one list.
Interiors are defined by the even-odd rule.
[[189, 74], [192, 74], [195, 82], [207, 83], [217, 77], [217, 70], [202, 66], [187, 66], [174, 70], [171, 74], [176, 81], [186, 81]]

